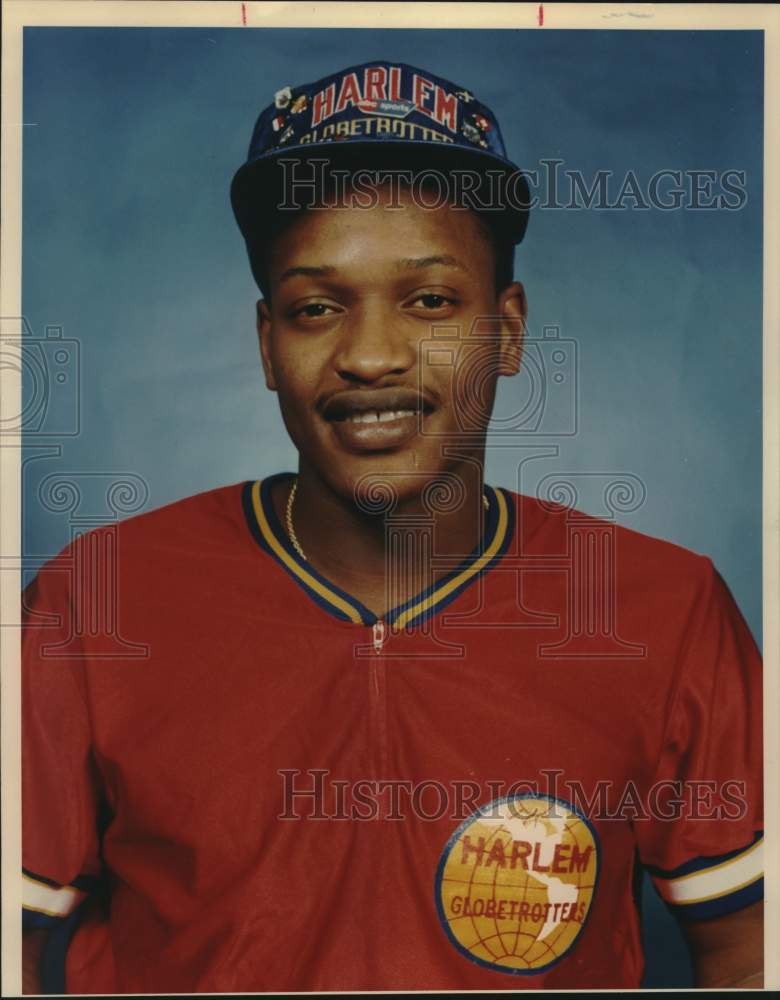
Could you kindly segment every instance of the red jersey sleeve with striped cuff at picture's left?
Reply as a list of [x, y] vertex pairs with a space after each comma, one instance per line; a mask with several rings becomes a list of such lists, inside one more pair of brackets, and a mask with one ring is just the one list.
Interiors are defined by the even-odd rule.
[[22, 905], [30, 929], [60, 925], [101, 870], [99, 786], [71, 575], [61, 554], [22, 598]]

